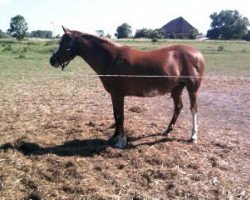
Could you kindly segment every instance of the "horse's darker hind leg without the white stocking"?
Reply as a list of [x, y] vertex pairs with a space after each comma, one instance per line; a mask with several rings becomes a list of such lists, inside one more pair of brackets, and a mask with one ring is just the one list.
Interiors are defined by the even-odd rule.
[[185, 85], [183, 83], [179, 84], [171, 92], [171, 97], [173, 98], [174, 101], [174, 114], [168, 128], [163, 132], [163, 134], [167, 135], [169, 132], [173, 130], [176, 120], [181, 112], [181, 109], [183, 108], [182, 91], [184, 87]]

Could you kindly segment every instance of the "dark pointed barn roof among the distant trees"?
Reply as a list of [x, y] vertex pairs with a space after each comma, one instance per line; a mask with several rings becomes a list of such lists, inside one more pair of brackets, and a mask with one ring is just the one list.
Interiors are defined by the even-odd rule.
[[171, 33], [189, 33], [190, 30], [195, 29], [190, 23], [188, 23], [183, 17], [178, 17], [168, 22], [162, 27], [165, 34]]

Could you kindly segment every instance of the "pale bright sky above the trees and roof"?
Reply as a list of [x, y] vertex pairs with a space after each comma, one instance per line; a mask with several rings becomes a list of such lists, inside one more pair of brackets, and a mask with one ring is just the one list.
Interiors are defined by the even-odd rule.
[[51, 30], [62, 34], [61, 26], [95, 34], [104, 30], [112, 36], [126, 22], [133, 32], [141, 28], [161, 28], [170, 20], [184, 17], [200, 32], [210, 28], [210, 14], [238, 10], [250, 20], [249, 0], [0, 0], [0, 29], [22, 15], [29, 32]]

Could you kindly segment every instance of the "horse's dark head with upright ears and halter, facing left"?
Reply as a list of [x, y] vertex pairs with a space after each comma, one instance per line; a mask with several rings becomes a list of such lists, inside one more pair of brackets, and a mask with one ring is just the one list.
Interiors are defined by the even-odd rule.
[[62, 67], [62, 70], [76, 56], [76, 44], [72, 32], [64, 27], [64, 35], [59, 44], [59, 48], [53, 52], [50, 58], [50, 64], [53, 67]]

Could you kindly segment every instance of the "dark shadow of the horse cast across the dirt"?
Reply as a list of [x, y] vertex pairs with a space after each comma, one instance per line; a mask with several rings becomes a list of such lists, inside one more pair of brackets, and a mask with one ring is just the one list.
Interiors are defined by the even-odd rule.
[[[151, 141], [149, 138], [157, 139]], [[143, 142], [142, 140], [147, 141]], [[149, 140], [149, 141], [148, 141]], [[134, 149], [139, 146], [153, 146], [159, 143], [167, 143], [172, 141], [187, 143], [186, 140], [180, 139], [170, 139], [162, 134], [149, 134], [138, 137], [129, 137], [128, 145], [126, 149]], [[0, 150], [15, 149], [26, 156], [30, 155], [45, 155], [45, 154], [55, 154], [58, 156], [82, 156], [82, 157], [92, 157], [94, 155], [99, 155], [104, 152], [108, 147], [113, 147], [108, 140], [104, 139], [86, 139], [86, 140], [72, 140], [65, 142], [62, 145], [56, 145], [52, 147], [42, 147], [39, 144], [31, 143], [27, 141], [18, 141], [16, 144], [6, 143], [0, 146]]]

